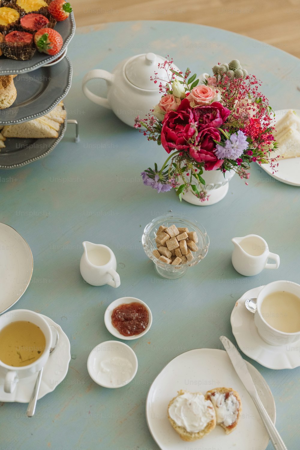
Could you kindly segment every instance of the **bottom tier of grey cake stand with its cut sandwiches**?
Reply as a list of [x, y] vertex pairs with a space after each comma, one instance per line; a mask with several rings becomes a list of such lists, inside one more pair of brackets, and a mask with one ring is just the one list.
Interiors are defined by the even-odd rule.
[[46, 156], [63, 138], [66, 127], [63, 102], [45, 116], [0, 126], [0, 169], [15, 169]]

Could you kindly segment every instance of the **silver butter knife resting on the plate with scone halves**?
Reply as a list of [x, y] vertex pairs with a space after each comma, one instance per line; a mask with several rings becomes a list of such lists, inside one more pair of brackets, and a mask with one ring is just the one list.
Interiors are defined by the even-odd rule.
[[224, 348], [232, 362], [232, 365], [238, 377], [242, 381], [243, 385], [246, 387], [247, 392], [249, 392], [264, 423], [264, 426], [269, 434], [274, 449], [287, 450], [287, 447], [282, 441], [282, 438], [280, 437], [280, 434], [278, 433], [277, 429], [275, 428], [275, 425], [270, 419], [269, 414], [267, 413], [267, 411], [264, 408], [264, 405], [260, 401], [260, 397], [257, 394], [255, 385], [253, 383], [251, 375], [247, 369], [246, 363], [243, 360], [242, 356], [239, 354], [237, 349], [234, 347], [233, 343], [229, 341], [228, 338], [226, 338], [225, 336], [221, 336], [220, 341], [224, 345]]

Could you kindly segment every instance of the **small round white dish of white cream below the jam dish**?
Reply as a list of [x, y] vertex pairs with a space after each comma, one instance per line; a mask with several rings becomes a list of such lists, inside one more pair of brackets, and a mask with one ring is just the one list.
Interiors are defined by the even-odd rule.
[[105, 341], [90, 352], [87, 368], [95, 383], [114, 389], [133, 380], [138, 370], [138, 359], [124, 342]]

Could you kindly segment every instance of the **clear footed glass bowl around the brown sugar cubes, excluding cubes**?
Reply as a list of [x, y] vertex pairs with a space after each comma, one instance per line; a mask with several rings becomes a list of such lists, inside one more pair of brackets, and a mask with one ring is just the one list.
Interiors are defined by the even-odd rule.
[[[193, 259], [191, 261], [186, 261], [184, 264], [173, 265], [167, 262], [160, 261], [157, 257], [153, 255], [153, 250], [157, 250], [157, 230], [163, 225], [165, 227], [170, 227], [175, 225], [177, 228], [188, 228], [189, 232], [196, 232], [198, 242], [196, 243], [198, 250], [192, 252]], [[197, 220], [190, 221], [186, 216], [174, 216], [173, 214], [167, 214], [166, 216], [160, 216], [153, 219], [144, 229], [142, 236], [142, 244], [146, 255], [152, 259], [154, 262], [157, 272], [165, 278], [175, 279], [182, 277], [189, 267], [196, 266], [198, 262], [201, 261], [206, 256], [209, 238], [206, 233], [205, 228], [197, 223]]]

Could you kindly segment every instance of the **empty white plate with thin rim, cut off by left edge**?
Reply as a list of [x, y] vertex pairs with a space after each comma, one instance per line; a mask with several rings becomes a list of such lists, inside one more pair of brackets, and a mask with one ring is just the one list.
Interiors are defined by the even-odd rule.
[[29, 245], [15, 229], [0, 222], [0, 314], [22, 297], [32, 270]]

